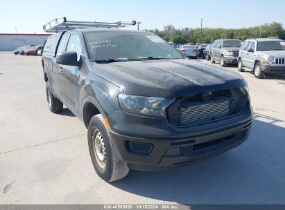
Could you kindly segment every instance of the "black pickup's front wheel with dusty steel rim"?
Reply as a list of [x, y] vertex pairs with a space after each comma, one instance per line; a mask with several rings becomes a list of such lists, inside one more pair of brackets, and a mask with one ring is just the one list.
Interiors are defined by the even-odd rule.
[[116, 154], [101, 114], [93, 116], [89, 122], [88, 146], [94, 169], [100, 178], [114, 182], [128, 175], [128, 166]]

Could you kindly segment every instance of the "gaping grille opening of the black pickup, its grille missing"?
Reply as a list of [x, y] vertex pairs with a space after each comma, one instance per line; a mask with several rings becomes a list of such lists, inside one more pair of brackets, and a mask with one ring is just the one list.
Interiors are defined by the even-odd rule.
[[183, 95], [166, 110], [169, 123], [178, 127], [200, 126], [241, 114], [248, 106], [243, 88]]

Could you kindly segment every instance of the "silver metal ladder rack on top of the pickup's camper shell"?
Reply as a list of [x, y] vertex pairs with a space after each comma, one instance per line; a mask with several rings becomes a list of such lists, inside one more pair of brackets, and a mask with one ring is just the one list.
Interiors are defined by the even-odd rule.
[[92, 21], [67, 21], [66, 17], [56, 17], [49, 23], [44, 24], [45, 32], [62, 32], [73, 29], [83, 28], [123, 28], [126, 26], [135, 26], [136, 21], [121, 20], [112, 23], [108, 22], [92, 22]]

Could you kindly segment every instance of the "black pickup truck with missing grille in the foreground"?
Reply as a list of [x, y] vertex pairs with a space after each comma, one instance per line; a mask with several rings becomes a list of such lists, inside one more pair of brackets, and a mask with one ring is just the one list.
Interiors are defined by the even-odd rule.
[[149, 32], [75, 29], [46, 41], [49, 109], [65, 104], [88, 128], [96, 173], [159, 171], [223, 153], [252, 125], [245, 80], [184, 58]]

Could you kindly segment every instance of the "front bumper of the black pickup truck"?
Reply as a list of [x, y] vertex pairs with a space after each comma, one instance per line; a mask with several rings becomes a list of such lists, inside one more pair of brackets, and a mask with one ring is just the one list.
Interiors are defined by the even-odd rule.
[[[223, 153], [243, 143], [250, 133], [252, 115], [227, 126], [211, 131], [189, 133], [187, 137], [133, 137], [108, 131], [119, 157], [130, 169], [162, 171], [184, 166]], [[137, 149], [148, 153], [140, 153]]]

